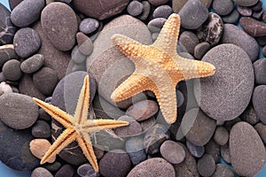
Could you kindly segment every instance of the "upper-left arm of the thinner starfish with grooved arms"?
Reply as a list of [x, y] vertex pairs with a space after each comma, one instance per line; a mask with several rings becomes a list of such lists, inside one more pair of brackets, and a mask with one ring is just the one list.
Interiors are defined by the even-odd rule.
[[71, 126], [70, 118], [71, 115], [67, 114], [66, 112], [59, 109], [59, 107], [47, 104], [43, 102], [42, 100], [39, 100], [37, 98], [33, 98], [35, 101], [35, 104], [38, 104], [43, 110], [51, 115], [52, 118], [56, 119], [60, 124], [62, 124], [64, 127]]

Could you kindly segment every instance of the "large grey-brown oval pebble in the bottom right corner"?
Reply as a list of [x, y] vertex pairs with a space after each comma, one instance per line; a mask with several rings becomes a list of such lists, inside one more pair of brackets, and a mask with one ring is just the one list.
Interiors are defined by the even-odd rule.
[[[262, 95], [261, 95], [262, 97]], [[265, 164], [265, 147], [254, 127], [239, 122], [231, 128], [231, 165], [240, 176], [254, 176]]]

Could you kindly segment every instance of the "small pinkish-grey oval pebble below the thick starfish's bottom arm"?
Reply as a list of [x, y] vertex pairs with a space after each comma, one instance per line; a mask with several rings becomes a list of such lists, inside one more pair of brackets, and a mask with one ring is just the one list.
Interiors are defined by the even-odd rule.
[[184, 161], [185, 151], [182, 146], [171, 140], [160, 145], [160, 154], [171, 164], [179, 164]]

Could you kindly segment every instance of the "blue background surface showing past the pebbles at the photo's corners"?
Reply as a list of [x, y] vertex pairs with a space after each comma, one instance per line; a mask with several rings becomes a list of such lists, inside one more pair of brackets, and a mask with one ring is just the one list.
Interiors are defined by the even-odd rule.
[[[266, 0], [262, 0], [263, 2], [263, 9], [266, 9]], [[1, 4], [4, 4], [6, 7], [9, 7], [8, 4], [8, 0], [0, 0]], [[260, 58], [262, 57], [262, 49], [260, 51]], [[225, 164], [225, 162], [223, 160], [221, 160], [221, 163]], [[29, 177], [30, 173], [29, 172], [19, 172], [19, 171], [15, 171], [12, 170], [11, 168], [9, 168], [8, 166], [4, 165], [3, 163], [0, 162], [0, 176], [7, 176], [7, 177]], [[266, 165], [264, 166], [264, 168], [262, 169], [261, 173], [258, 173], [256, 175], [256, 177], [265, 177], [266, 176]]]

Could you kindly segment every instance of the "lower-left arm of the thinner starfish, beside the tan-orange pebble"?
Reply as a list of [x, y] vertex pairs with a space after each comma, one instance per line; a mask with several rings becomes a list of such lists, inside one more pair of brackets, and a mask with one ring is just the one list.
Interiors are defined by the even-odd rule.
[[76, 133], [73, 128], [66, 128], [66, 130], [59, 135], [58, 139], [52, 143], [49, 150], [46, 151], [40, 164], [49, 161], [50, 158], [55, 157], [61, 150], [63, 150], [69, 143], [74, 142]]

